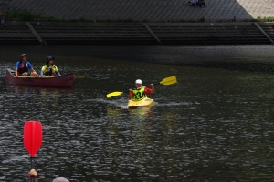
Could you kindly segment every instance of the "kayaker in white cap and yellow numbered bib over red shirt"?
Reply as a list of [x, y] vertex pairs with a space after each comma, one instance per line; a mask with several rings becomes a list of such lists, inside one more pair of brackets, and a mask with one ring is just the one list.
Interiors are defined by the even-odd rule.
[[140, 100], [143, 97], [147, 97], [147, 95], [150, 93], [155, 93], [155, 88], [154, 88], [153, 84], [151, 84], [152, 89], [150, 89], [146, 86], [142, 86], [141, 79], [137, 79], [135, 81], [135, 86], [136, 86], [136, 88], [129, 89], [129, 99]]

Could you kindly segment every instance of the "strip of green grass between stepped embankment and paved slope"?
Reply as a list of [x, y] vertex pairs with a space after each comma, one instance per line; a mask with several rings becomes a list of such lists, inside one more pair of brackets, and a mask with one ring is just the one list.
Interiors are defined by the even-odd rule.
[[[26, 10], [3, 10], [0, 11], [3, 13], [5, 16], [5, 19], [7, 21], [40, 21], [40, 22], [98, 22], [98, 23], [149, 23], [150, 21], [147, 19], [141, 20], [132, 20], [131, 18], [129, 19], [97, 19], [97, 20], [88, 20], [85, 19], [84, 17], [81, 17], [79, 19], [56, 19], [53, 16], [46, 16], [42, 14], [33, 14], [30, 13]], [[211, 20], [207, 20], [211, 21]], [[207, 22], [205, 17], [202, 16], [201, 18], [195, 20], [195, 19], [180, 19], [180, 20], [163, 20], [163, 21], [157, 21], [159, 23], [165, 23], [165, 22], [170, 22], [170, 23], [195, 23], [195, 22]], [[218, 20], [216, 20], [218, 22]], [[237, 20], [237, 17], [234, 15], [231, 20], [219, 20], [222, 22], [274, 22], [274, 16], [269, 16], [269, 17], [261, 17], [258, 16], [255, 19], [245, 19], [245, 20]]]

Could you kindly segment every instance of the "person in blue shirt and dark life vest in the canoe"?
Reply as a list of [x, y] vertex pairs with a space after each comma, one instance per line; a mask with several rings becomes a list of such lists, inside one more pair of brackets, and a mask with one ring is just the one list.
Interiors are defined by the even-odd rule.
[[[27, 56], [26, 54], [22, 54], [20, 56], [20, 61], [16, 63], [16, 77], [17, 76], [39, 76], [34, 70], [33, 66], [26, 61]], [[29, 70], [31, 72], [29, 72]]]

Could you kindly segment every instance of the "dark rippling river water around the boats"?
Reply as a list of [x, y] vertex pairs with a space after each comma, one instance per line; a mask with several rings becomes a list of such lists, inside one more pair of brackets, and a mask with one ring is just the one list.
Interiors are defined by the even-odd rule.
[[[54, 56], [71, 89], [7, 85], [22, 53], [38, 71]], [[1, 46], [0, 181], [28, 181], [23, 126], [40, 121], [38, 182], [274, 179], [273, 46]], [[152, 108], [127, 91], [155, 86]]]

